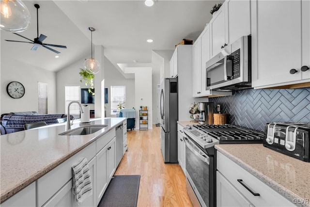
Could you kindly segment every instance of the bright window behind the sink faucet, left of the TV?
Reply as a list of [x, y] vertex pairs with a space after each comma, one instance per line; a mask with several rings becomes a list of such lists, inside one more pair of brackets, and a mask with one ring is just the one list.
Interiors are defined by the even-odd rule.
[[[65, 113], [68, 113], [68, 105], [71, 101], [80, 100], [80, 89], [79, 85], [66, 85], [65, 86]], [[70, 105], [70, 114], [79, 114], [78, 104]]]

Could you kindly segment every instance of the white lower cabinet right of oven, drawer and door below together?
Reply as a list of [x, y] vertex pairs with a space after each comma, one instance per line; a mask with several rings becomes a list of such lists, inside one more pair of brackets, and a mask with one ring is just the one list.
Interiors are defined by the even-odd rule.
[[217, 151], [217, 206], [295, 207], [278, 192]]

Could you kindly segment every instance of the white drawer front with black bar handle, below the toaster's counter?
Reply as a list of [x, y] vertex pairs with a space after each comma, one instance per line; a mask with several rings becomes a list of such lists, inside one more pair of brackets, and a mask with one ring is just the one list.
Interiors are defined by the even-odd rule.
[[[254, 175], [234, 163], [231, 159], [217, 151], [217, 170], [229, 180], [254, 206], [262, 207], [294, 207], [294, 204], [271, 189]], [[259, 193], [253, 195], [238, 179], [251, 191]]]

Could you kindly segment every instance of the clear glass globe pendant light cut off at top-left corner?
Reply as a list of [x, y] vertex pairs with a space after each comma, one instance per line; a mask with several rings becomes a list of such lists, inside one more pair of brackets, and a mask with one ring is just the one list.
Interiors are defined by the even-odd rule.
[[30, 12], [21, 0], [0, 0], [0, 30], [22, 32], [30, 25]]

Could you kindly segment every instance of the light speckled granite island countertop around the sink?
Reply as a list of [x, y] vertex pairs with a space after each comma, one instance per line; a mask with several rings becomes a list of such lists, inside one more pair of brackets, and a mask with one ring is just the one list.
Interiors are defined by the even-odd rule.
[[[108, 125], [90, 135], [63, 136], [65, 123], [0, 136], [0, 202], [22, 190], [93, 143], [126, 118], [91, 119], [92, 125]], [[71, 128], [80, 127], [79, 121]]]

